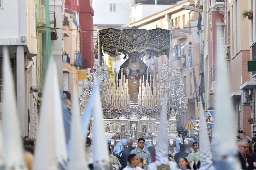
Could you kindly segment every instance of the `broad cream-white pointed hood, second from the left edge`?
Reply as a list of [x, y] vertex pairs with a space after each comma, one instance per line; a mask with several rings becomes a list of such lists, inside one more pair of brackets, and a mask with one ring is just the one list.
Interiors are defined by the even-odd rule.
[[40, 107], [33, 170], [57, 169], [56, 125], [54, 112], [56, 110], [55, 107], [61, 107], [59, 106], [58, 99], [56, 99], [57, 97], [54, 96], [55, 93], [60, 95], [57, 79], [56, 64], [53, 59], [51, 59], [46, 73], [42, 98], [43, 101]]

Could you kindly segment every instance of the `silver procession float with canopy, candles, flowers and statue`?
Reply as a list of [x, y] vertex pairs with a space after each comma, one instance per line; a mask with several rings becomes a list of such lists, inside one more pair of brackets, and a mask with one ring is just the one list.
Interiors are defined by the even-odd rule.
[[[117, 30], [108, 28], [97, 33], [95, 50], [98, 59], [93, 68], [87, 68], [87, 79], [83, 83], [80, 99], [81, 110], [86, 105], [96, 80], [100, 79], [99, 89], [106, 136], [121, 140], [143, 137], [146, 140], [156, 138], [159, 133], [160, 113], [164, 93], [167, 97], [167, 135], [177, 136], [177, 121], [180, 115], [187, 113], [188, 98], [185, 98], [185, 84], [180, 68], [173, 68], [172, 32], [156, 28], [152, 30]], [[124, 54], [128, 58], [119, 72], [109, 72], [103, 63], [103, 53], [115, 57]], [[144, 55], [160, 57], [167, 55], [158, 73], [149, 72], [148, 66], [141, 60]], [[114, 77], [114, 78], [112, 78]], [[96, 119], [92, 116], [91, 118]], [[91, 121], [89, 136], [92, 136]]]

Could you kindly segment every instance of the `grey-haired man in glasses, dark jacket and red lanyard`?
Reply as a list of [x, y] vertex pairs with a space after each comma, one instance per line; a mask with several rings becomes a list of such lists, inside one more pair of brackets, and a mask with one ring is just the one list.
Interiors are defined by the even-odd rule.
[[240, 140], [237, 143], [237, 148], [239, 151], [239, 160], [241, 162], [242, 165], [242, 169], [244, 170], [253, 170], [253, 162], [254, 160], [252, 159], [251, 156], [249, 156], [248, 154], [246, 154], [247, 150], [248, 150], [249, 144], [246, 140]]

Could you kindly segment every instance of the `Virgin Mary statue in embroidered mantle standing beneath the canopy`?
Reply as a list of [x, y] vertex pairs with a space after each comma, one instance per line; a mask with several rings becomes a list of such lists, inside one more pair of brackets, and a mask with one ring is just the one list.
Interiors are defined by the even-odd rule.
[[129, 95], [131, 101], [138, 101], [140, 79], [142, 76], [147, 79], [148, 66], [137, 56], [129, 57], [120, 67], [118, 79], [121, 79], [121, 68], [125, 79], [128, 79]]

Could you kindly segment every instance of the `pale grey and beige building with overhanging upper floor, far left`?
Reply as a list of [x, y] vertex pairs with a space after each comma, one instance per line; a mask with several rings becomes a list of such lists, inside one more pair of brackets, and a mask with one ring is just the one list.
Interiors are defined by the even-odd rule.
[[[14, 88], [16, 90], [18, 120], [23, 136], [35, 136], [37, 128], [38, 79], [37, 32], [35, 1], [1, 1], [0, 67], [2, 47], [8, 46]], [[0, 74], [3, 75], [0, 69]], [[0, 110], [3, 80], [0, 80]], [[29, 130], [30, 129], [30, 130]]]

